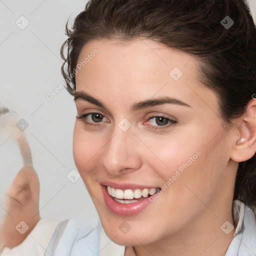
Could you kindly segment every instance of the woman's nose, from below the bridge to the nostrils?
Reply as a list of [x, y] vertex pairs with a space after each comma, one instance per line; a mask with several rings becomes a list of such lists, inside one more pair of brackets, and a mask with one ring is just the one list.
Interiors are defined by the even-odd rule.
[[138, 139], [132, 129], [122, 131], [117, 125], [111, 138], [103, 147], [101, 164], [111, 175], [120, 175], [120, 172], [134, 171], [141, 166], [141, 156]]

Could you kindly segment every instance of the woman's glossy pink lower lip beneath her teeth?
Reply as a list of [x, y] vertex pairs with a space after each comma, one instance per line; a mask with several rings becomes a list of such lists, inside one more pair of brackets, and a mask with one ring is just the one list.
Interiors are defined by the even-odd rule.
[[149, 200], [150, 197], [146, 199], [139, 200], [137, 202], [132, 203], [121, 203], [115, 201], [112, 196], [107, 192], [106, 186], [100, 185], [103, 191], [103, 196], [105, 199], [106, 206], [108, 209], [117, 215], [122, 216], [131, 216], [138, 214], [141, 210], [143, 210], [147, 205], [151, 203]]

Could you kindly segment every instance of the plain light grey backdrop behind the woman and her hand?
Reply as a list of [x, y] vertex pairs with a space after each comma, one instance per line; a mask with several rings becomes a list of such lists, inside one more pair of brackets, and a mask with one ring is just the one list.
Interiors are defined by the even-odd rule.
[[[250, 0], [256, 20], [256, 0]], [[75, 105], [63, 88], [51, 100], [46, 95], [63, 78], [59, 48], [64, 25], [85, 6], [86, 0], [0, 0], [0, 106], [18, 113], [25, 129], [34, 168], [40, 180], [40, 215], [48, 219], [96, 218], [97, 213], [79, 178], [72, 157]], [[29, 24], [21, 29], [19, 25]], [[4, 191], [21, 168], [18, 147], [0, 134], [0, 203]]]

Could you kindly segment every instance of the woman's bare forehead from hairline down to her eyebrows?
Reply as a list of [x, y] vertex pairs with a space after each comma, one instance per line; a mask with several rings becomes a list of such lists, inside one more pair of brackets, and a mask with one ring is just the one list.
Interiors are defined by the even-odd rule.
[[92, 91], [103, 100], [108, 95], [123, 104], [157, 94], [179, 97], [191, 105], [205, 104], [203, 96], [216, 107], [213, 91], [197, 80], [198, 60], [150, 39], [92, 40], [83, 46], [79, 64], [76, 90]]

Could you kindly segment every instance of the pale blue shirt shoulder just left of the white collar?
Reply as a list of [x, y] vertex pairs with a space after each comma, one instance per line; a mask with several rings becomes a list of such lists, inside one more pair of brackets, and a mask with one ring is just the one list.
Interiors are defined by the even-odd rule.
[[96, 256], [100, 229], [99, 220], [61, 221], [57, 224], [46, 251], [52, 256]]

